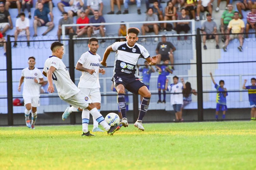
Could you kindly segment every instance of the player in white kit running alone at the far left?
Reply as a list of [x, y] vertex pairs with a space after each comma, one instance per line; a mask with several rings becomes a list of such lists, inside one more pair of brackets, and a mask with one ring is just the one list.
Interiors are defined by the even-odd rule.
[[[23, 86], [23, 100], [26, 106], [25, 109], [25, 121], [27, 127], [34, 129], [35, 122], [37, 118], [37, 107], [40, 106], [40, 87], [41, 84], [44, 82], [43, 75], [38, 68], [35, 68], [35, 58], [29, 57], [28, 58], [28, 67], [24, 68], [21, 72], [20, 83], [18, 86], [18, 91], [21, 91], [21, 84], [24, 81]], [[32, 122], [30, 124], [29, 120], [29, 113], [32, 108], [31, 112], [31, 119]]]

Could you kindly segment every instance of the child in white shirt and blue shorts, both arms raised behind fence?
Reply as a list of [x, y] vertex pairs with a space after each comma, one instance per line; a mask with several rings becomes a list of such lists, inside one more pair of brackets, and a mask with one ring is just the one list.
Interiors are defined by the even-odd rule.
[[173, 105], [173, 110], [175, 112], [175, 122], [180, 122], [182, 119], [181, 106], [183, 105], [183, 88], [186, 88], [184, 80], [181, 78], [181, 82], [179, 82], [179, 77], [177, 76], [173, 77], [173, 84], [168, 86], [168, 79], [165, 84], [165, 89], [171, 92], [171, 105]]

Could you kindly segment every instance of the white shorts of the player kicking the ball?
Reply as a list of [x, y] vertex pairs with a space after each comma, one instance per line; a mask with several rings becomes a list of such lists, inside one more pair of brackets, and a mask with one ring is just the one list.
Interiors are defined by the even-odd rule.
[[85, 109], [90, 103], [92, 103], [92, 100], [88, 97], [88, 95], [86, 95], [82, 91], [76, 93], [68, 99], [62, 100], [67, 102], [71, 106], [74, 106], [75, 108], [80, 107], [80, 109]]

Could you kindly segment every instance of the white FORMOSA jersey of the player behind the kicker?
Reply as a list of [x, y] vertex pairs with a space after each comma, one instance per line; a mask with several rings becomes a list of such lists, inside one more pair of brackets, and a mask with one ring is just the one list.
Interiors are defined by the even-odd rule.
[[86, 71], [82, 71], [78, 88], [100, 88], [99, 68], [101, 57], [98, 54], [94, 55], [90, 51], [87, 51], [81, 55], [78, 62], [81, 63], [84, 68], [95, 70], [95, 73], [92, 75]]

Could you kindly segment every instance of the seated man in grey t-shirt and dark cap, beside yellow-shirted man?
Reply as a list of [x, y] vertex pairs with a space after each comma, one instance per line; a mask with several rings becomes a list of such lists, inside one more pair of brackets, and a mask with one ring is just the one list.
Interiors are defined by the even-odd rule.
[[[216, 22], [211, 20], [211, 14], [206, 14], [206, 19], [202, 25], [202, 33], [206, 34], [203, 36], [203, 43], [204, 43], [204, 49], [207, 49], [205, 42], [209, 39], [215, 39], [216, 40], [216, 49], [219, 49], [219, 36], [216, 35], [217, 33], [217, 24]], [[214, 34], [214, 35], [213, 35]]]

